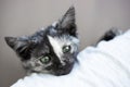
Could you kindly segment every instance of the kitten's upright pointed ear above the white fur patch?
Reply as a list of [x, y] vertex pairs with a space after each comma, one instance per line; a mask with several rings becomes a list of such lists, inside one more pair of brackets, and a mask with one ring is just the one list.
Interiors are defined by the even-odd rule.
[[70, 35], [76, 36], [76, 24], [75, 24], [75, 8], [70, 7], [60, 20], [60, 27]]

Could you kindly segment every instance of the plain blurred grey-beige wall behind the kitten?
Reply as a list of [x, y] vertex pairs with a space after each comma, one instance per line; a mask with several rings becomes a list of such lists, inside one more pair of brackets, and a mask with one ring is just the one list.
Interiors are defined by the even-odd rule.
[[30, 35], [56, 21], [74, 2], [80, 49], [95, 44], [110, 27], [130, 28], [130, 0], [0, 0], [0, 87], [25, 76], [3, 37]]

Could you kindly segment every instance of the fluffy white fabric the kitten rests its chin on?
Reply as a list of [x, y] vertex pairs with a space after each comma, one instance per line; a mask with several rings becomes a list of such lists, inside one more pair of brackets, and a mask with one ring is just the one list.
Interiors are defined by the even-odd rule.
[[11, 87], [130, 87], [130, 30], [78, 54], [70, 74], [31, 74]]

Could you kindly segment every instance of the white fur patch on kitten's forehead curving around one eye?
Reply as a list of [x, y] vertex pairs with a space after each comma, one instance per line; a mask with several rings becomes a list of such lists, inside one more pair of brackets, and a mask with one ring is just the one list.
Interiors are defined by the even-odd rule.
[[64, 46], [70, 46], [72, 47], [70, 53], [78, 50], [79, 40], [75, 37], [62, 36], [62, 37], [57, 38], [57, 37], [48, 36], [48, 38], [49, 38], [51, 46], [53, 47], [55, 54], [58, 57], [58, 59], [63, 65], [65, 65], [65, 63], [64, 63], [65, 59], [63, 58], [64, 53], [63, 53], [62, 48]]

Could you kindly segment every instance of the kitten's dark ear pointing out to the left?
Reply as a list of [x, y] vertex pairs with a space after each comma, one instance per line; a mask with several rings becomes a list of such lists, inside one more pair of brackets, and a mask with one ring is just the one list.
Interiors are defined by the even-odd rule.
[[30, 58], [30, 50], [34, 48], [34, 41], [28, 37], [5, 37], [5, 41], [21, 58], [27, 60]]

